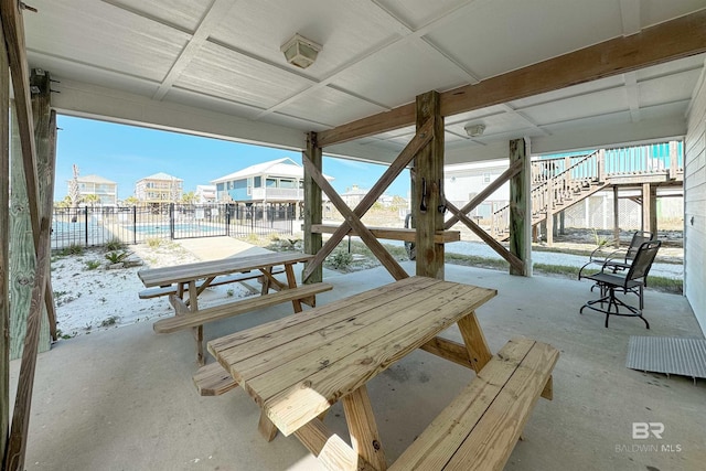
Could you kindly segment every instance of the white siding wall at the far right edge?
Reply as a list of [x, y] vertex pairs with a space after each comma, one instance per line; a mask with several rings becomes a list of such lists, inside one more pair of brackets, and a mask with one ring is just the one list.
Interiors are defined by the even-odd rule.
[[706, 81], [688, 116], [684, 167], [684, 293], [706, 334]]

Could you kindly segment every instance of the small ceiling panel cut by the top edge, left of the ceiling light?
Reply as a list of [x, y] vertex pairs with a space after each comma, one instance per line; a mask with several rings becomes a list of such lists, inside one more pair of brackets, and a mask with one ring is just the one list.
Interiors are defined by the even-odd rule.
[[213, 0], [107, 0], [106, 3], [186, 31], [194, 31]]

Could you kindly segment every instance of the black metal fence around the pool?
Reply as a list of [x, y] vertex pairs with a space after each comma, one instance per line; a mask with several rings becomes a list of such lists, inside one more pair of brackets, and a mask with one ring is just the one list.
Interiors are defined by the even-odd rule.
[[195, 238], [272, 233], [291, 235], [295, 204], [164, 204], [55, 208], [52, 248], [99, 246], [113, 239]]

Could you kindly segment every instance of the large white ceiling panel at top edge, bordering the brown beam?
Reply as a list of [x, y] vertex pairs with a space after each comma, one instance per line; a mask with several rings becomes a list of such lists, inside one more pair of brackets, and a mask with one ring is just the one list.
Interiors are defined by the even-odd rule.
[[620, 35], [617, 0], [498, 0], [468, 9], [428, 38], [488, 78]]

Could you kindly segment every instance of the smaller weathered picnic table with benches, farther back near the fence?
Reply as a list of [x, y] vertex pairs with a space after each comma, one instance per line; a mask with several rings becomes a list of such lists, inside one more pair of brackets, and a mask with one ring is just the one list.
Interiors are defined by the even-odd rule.
[[[171, 287], [164, 291], [174, 307], [175, 315], [159, 320], [153, 328], [159, 333], [193, 328], [196, 339], [196, 360], [204, 363], [203, 323], [237, 315], [256, 309], [291, 301], [295, 312], [301, 312], [301, 303], [315, 304], [315, 293], [331, 289], [327, 283], [297, 287], [293, 266], [308, 261], [312, 255], [300, 253], [270, 253], [218, 260], [197, 261], [179, 266], [149, 268], [138, 271], [145, 287]], [[287, 282], [274, 277], [275, 267], [284, 266]], [[233, 274], [258, 271], [263, 278], [261, 296], [255, 299], [236, 299], [220, 306], [199, 309], [199, 295], [216, 280]], [[275, 270], [276, 272], [276, 270]], [[250, 277], [252, 278], [252, 277]], [[228, 278], [237, 281], [239, 278]], [[274, 289], [275, 293], [269, 293]], [[189, 314], [189, 315], [184, 315]]]

